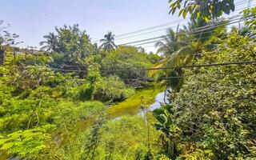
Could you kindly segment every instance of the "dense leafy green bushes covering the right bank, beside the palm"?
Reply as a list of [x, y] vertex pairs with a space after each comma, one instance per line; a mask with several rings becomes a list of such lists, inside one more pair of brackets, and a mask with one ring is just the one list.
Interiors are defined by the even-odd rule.
[[[254, 15], [254, 9], [246, 14]], [[254, 20], [246, 21], [253, 33]], [[254, 27], [251, 27], [254, 26]], [[218, 38], [211, 52], [203, 46], [189, 64], [250, 62], [255, 39], [237, 28]], [[205, 44], [209, 43], [211, 38]], [[171, 159], [254, 159], [255, 64], [182, 69], [180, 90], [169, 85], [170, 102], [154, 110], [162, 131], [163, 154]], [[170, 80], [172, 82], [172, 79]]]

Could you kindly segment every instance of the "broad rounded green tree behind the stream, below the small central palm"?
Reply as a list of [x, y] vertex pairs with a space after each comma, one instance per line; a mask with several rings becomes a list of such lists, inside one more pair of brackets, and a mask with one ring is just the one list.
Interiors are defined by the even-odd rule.
[[[119, 46], [117, 50], [102, 59], [102, 74], [116, 74], [124, 82], [141, 87], [148, 79], [146, 68], [153, 66], [161, 58], [155, 54], [146, 54], [133, 46]], [[113, 70], [116, 70], [115, 72]]]

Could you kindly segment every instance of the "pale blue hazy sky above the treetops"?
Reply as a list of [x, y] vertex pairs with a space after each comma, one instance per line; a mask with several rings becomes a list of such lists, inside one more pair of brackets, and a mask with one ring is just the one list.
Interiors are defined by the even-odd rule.
[[[246, 0], [235, 2], [244, 2], [236, 10], [247, 6]], [[255, 4], [256, 1], [252, 0], [251, 6]], [[178, 14], [169, 14], [168, 0], [0, 0], [0, 6], [0, 19], [5, 24], [10, 23], [8, 30], [11, 33], [20, 35], [18, 40], [23, 42], [21, 47], [39, 48], [39, 42], [43, 41], [44, 35], [54, 31], [55, 26], [65, 24], [78, 23], [80, 29], [86, 30], [94, 42], [103, 38], [109, 30], [120, 35], [166, 22], [180, 21], [180, 25], [187, 23]], [[178, 23], [170, 24], [170, 27], [175, 29], [177, 25]], [[165, 34], [166, 27], [132, 38], [125, 36], [115, 43], [158, 37]], [[156, 50], [154, 43], [142, 46], [147, 51]]]

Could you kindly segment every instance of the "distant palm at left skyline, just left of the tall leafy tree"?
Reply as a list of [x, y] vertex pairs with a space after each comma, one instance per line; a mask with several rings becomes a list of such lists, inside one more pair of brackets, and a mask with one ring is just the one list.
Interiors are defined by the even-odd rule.
[[[46, 41], [40, 42], [40, 46], [42, 46], [41, 50], [45, 50], [46, 52], [53, 52], [57, 50], [58, 45], [58, 37], [53, 32], [50, 32], [48, 35], [43, 36], [46, 38]], [[43, 46], [46, 44], [46, 46]]]

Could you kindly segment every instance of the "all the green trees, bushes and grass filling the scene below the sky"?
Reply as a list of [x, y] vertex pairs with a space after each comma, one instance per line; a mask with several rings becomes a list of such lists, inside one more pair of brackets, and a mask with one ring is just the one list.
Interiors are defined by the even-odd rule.
[[[78, 25], [16, 55], [18, 36], [0, 27], [0, 159], [255, 159], [255, 8], [243, 12], [242, 30], [223, 20], [189, 34], [232, 5], [189, 3], [202, 17], [168, 30], [156, 44], [162, 57], [115, 46], [112, 32], [98, 47]], [[165, 101], [151, 112], [162, 88]]]

